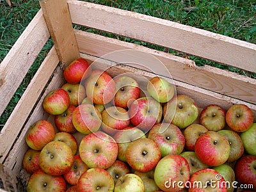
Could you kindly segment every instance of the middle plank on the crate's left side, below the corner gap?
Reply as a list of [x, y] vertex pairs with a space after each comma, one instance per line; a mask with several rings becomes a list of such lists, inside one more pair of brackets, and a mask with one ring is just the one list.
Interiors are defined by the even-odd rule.
[[6, 154], [8, 154], [12, 144], [20, 133], [22, 125], [24, 125], [28, 119], [31, 109], [36, 104], [40, 94], [44, 90], [45, 85], [49, 81], [49, 78], [59, 62], [60, 61], [58, 60], [56, 50], [54, 47], [52, 47], [51, 51], [42, 62], [42, 65], [40, 65], [40, 68], [38, 68], [35, 76], [31, 80], [31, 83], [29, 83], [28, 88], [25, 90], [17, 106], [15, 106], [15, 109], [13, 109], [12, 114], [1, 130], [0, 163], [3, 163], [4, 157], [6, 157]]

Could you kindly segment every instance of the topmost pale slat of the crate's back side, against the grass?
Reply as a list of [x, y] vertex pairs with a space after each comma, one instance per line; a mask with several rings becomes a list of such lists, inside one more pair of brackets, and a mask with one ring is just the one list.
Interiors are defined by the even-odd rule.
[[[256, 45], [169, 20], [68, 1], [72, 22], [256, 72]], [[83, 13], [83, 14], [81, 14]]]

